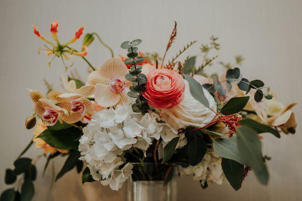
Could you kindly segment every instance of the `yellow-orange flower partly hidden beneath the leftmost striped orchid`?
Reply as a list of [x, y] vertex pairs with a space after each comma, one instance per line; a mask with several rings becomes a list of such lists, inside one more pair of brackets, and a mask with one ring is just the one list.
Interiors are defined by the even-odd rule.
[[44, 140], [41, 138], [37, 138], [43, 131], [45, 131], [47, 127], [43, 124], [42, 120], [40, 119], [38, 123], [35, 126], [34, 130], [34, 137], [33, 137], [33, 142], [36, 143], [37, 148], [43, 148], [44, 149], [44, 154], [47, 154], [48, 152], [50, 154], [54, 154], [57, 151], [60, 153], [67, 153], [68, 150], [63, 150], [63, 149], [56, 149], [49, 144], [47, 144]]

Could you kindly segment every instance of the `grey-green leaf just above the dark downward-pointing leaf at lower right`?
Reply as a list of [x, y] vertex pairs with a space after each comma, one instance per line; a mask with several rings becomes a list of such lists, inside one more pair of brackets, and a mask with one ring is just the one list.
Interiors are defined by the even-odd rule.
[[239, 151], [237, 148], [237, 140], [234, 135], [230, 139], [219, 138], [213, 140], [213, 149], [216, 154], [221, 156], [222, 158], [228, 158], [235, 160], [241, 164], [243, 160], [240, 158]]

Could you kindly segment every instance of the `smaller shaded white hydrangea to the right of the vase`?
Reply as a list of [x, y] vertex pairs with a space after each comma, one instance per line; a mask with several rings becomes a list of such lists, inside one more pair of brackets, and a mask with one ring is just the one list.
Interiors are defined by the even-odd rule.
[[221, 157], [216, 155], [212, 150], [207, 150], [204, 158], [195, 166], [188, 166], [180, 169], [181, 176], [194, 176], [194, 180], [201, 180], [201, 184], [205, 181], [212, 181], [222, 184], [225, 177], [221, 167]]

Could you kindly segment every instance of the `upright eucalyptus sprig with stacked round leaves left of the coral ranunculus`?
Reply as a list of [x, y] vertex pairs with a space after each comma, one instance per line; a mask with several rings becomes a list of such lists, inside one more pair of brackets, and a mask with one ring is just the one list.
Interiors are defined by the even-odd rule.
[[147, 104], [147, 100], [141, 95], [145, 88], [145, 84], [147, 83], [147, 77], [141, 73], [141, 65], [137, 65], [137, 63], [143, 62], [143, 57], [137, 57], [138, 46], [141, 43], [140, 39], [136, 39], [132, 42], [125, 41], [121, 44], [121, 48], [127, 49], [128, 54], [124, 63], [131, 65], [129, 69], [129, 73], [125, 75], [125, 79], [132, 82], [132, 86], [130, 86], [130, 91], [128, 92], [129, 97], [136, 98], [135, 104], [132, 105], [132, 109], [137, 113], [146, 113], [149, 110], [149, 106]]

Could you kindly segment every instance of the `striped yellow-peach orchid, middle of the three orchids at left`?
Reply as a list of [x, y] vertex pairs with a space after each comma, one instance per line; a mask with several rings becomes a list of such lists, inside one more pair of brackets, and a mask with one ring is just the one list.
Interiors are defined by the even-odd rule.
[[66, 92], [50, 91], [47, 95], [58, 103], [58, 106], [67, 110], [67, 114], [62, 114], [62, 120], [66, 123], [75, 123], [83, 120], [84, 117], [93, 115], [93, 105], [87, 97], [94, 93], [93, 86], [82, 86], [77, 89], [73, 80], [67, 81], [62, 77], [62, 85]]

